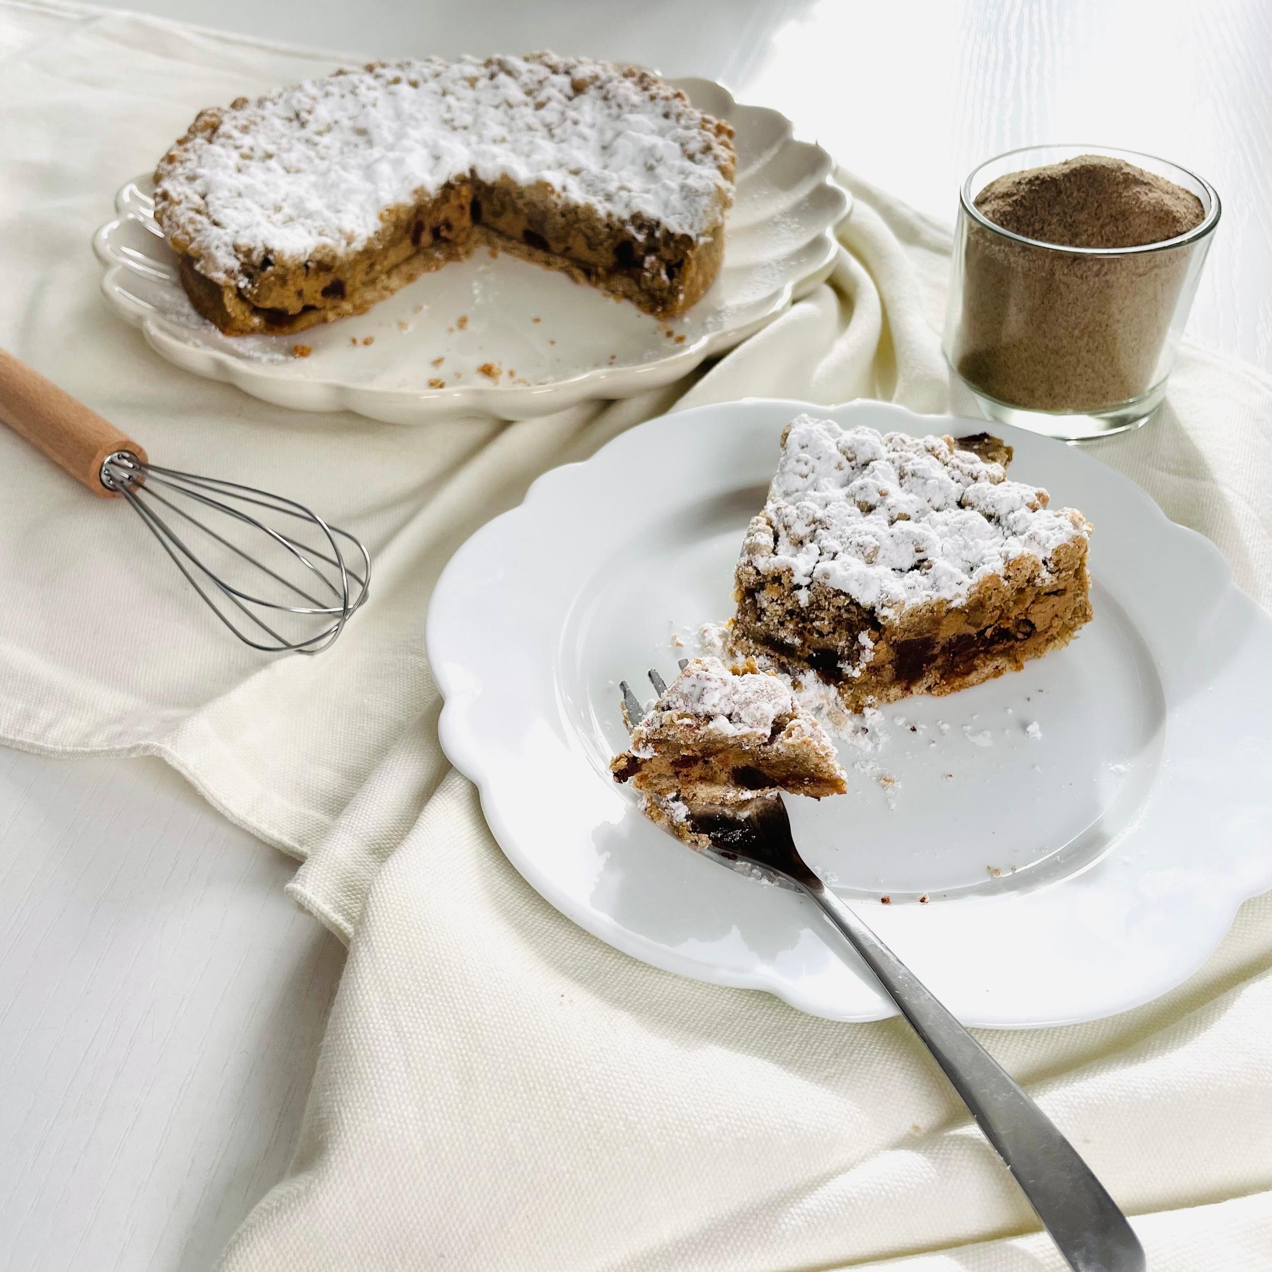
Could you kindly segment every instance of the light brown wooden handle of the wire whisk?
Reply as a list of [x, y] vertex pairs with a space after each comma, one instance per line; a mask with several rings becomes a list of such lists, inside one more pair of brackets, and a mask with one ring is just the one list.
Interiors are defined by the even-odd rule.
[[146, 459], [146, 453], [127, 434], [3, 349], [0, 420], [104, 499], [118, 495], [102, 485], [107, 455], [127, 450], [142, 463]]

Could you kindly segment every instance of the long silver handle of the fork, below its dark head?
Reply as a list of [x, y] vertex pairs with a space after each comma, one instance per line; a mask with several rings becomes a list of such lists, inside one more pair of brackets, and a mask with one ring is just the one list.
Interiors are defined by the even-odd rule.
[[865, 959], [1006, 1163], [1075, 1272], [1144, 1272], [1144, 1249], [1090, 1166], [1011, 1075], [819, 881], [804, 890]]

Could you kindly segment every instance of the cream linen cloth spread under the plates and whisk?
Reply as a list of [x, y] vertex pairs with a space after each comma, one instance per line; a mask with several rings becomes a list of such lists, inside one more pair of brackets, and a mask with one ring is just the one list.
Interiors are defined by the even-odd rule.
[[[672, 404], [943, 410], [946, 232], [845, 174], [857, 205], [832, 285], [692, 385], [519, 425], [291, 415], [151, 355], [98, 299], [86, 244], [196, 108], [332, 62], [0, 3], [0, 345], [162, 462], [295, 492], [377, 551], [375, 597], [332, 651], [262, 661], [130, 515], [0, 432], [18, 492], [0, 505], [0, 736], [163, 756], [308, 857], [293, 894], [351, 939], [296, 1161], [225, 1272], [1058, 1267], [897, 1021], [833, 1025], [656, 972], [547, 907], [439, 752], [421, 647], [472, 529]], [[1272, 384], [1189, 349], [1163, 418], [1096, 453], [1272, 600]], [[1269, 968], [1261, 898], [1147, 1007], [985, 1035], [1141, 1216], [1155, 1269], [1272, 1263]]]

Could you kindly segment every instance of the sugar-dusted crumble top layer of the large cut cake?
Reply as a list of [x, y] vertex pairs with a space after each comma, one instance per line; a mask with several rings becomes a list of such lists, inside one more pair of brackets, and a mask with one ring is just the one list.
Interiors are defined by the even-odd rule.
[[469, 173], [547, 182], [700, 239], [730, 197], [728, 132], [646, 71], [552, 53], [431, 57], [204, 111], [160, 163], [156, 200], [169, 238], [221, 284], [244, 258], [357, 251], [384, 209]]

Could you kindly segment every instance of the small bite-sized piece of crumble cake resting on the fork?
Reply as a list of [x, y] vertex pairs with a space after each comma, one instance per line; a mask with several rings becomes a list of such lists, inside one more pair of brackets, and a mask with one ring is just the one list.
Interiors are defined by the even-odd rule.
[[688, 843], [701, 826], [735, 814], [757, 794], [841, 795], [834, 743], [776, 675], [748, 661], [696, 658], [632, 730], [611, 763], [641, 792], [646, 815]]

